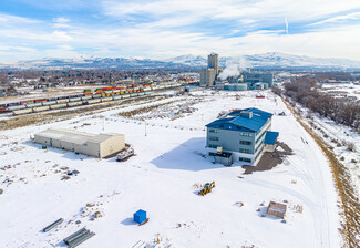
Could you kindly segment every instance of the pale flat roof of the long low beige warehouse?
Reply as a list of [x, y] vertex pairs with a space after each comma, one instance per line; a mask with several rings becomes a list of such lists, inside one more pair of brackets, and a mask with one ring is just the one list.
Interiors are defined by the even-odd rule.
[[74, 144], [84, 144], [86, 142], [101, 143], [112, 136], [121, 134], [91, 134], [64, 128], [50, 128], [42, 131], [35, 135]]

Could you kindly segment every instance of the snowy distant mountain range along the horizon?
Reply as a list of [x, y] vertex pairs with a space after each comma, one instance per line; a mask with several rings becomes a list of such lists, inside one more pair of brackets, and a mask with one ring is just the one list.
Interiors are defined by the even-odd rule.
[[[125, 59], [79, 56], [75, 59], [40, 59], [0, 63], [1, 70], [75, 70], [75, 69], [113, 69], [113, 70], [198, 70], [205, 68], [206, 56], [181, 55], [169, 59]], [[260, 68], [266, 70], [349, 70], [360, 69], [360, 61], [344, 59], [319, 59], [268, 52], [255, 55], [225, 58], [219, 56], [219, 66], [238, 64], [241, 68]]]

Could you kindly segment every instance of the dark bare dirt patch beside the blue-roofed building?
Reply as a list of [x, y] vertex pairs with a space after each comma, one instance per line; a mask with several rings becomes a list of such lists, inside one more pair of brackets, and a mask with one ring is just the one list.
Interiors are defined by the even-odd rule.
[[[282, 151], [278, 149], [279, 147], [281, 147]], [[287, 144], [282, 142], [276, 142], [276, 149], [274, 152], [265, 152], [256, 166], [243, 166], [243, 168], [245, 169], [244, 174], [270, 170], [277, 165], [281, 164], [286, 156], [289, 156], [291, 154], [292, 149]]]

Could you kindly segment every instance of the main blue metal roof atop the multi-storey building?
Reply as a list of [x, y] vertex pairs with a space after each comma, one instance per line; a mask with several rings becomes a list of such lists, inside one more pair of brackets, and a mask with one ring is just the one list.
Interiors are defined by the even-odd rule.
[[[247, 118], [240, 116], [240, 112], [243, 111], [253, 112], [253, 117]], [[253, 108], [245, 108], [240, 111], [234, 111], [229, 113], [227, 116], [232, 116], [232, 117], [218, 118], [207, 124], [206, 126], [224, 128], [224, 130], [233, 130], [230, 125], [233, 124], [236, 127], [238, 127], [237, 130], [243, 130], [247, 132], [258, 132], [267, 123], [268, 118], [272, 116], [272, 114], [253, 107]], [[224, 125], [224, 124], [229, 124], [229, 125]], [[219, 125], [223, 126], [220, 127]]]

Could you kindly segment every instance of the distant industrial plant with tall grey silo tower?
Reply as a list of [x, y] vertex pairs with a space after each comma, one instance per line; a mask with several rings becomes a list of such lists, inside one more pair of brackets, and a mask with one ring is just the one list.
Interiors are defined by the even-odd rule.
[[200, 86], [228, 91], [266, 90], [272, 86], [272, 73], [247, 70], [239, 75], [220, 80], [222, 72], [218, 65], [218, 54], [209, 54], [207, 68], [200, 70]]

